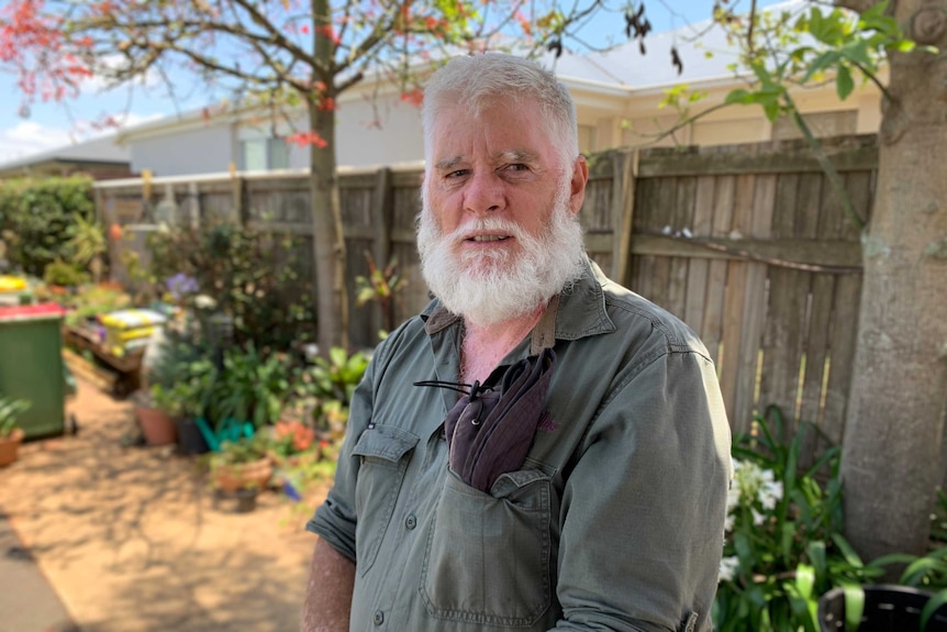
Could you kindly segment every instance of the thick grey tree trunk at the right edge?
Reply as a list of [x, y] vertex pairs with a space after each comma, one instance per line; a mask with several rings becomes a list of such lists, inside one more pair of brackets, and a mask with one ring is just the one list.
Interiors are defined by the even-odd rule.
[[842, 476], [845, 532], [865, 561], [923, 554], [944, 476], [947, 412], [947, 1], [900, 0]]

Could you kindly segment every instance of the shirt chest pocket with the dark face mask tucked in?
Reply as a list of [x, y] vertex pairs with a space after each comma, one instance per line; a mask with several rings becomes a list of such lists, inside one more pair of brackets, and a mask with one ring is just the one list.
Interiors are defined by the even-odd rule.
[[453, 621], [536, 625], [552, 603], [550, 492], [549, 476], [538, 470], [503, 474], [491, 494], [448, 470], [422, 569], [427, 611]]

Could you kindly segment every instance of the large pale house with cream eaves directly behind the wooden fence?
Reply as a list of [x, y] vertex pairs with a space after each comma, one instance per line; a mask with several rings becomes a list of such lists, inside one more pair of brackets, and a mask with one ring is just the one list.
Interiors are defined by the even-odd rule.
[[[766, 10], [793, 10], [804, 4], [790, 0]], [[546, 57], [546, 65], [556, 70], [576, 101], [582, 152], [753, 143], [800, 134], [789, 120], [771, 123], [757, 106], [714, 108], [744, 81], [727, 69], [736, 56], [718, 25], [705, 21], [649, 35], [645, 45], [646, 55], [637, 42], [630, 42], [606, 53]], [[683, 63], [680, 74], [671, 64], [672, 46]], [[688, 113], [710, 113], [661, 136], [680, 121], [680, 113], [662, 102], [668, 90], [681, 84], [704, 95]], [[871, 84], [857, 88], [844, 102], [836, 97], [833, 81], [796, 88], [793, 98], [817, 136], [871, 133], [880, 124], [880, 93]], [[294, 118], [304, 120], [304, 112]], [[133, 170], [148, 169], [158, 177], [304, 169], [309, 147], [285, 141], [302, 129], [298, 122], [274, 121], [265, 112], [221, 107], [145, 123], [120, 133], [118, 140], [127, 145]], [[381, 79], [367, 78], [338, 98], [336, 138], [341, 167], [423, 159], [417, 107]]]

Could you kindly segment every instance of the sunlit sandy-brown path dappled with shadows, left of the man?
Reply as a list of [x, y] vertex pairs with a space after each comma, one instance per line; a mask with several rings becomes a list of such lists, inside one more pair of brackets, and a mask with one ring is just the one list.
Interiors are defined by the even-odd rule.
[[123, 446], [131, 402], [76, 377], [79, 433], [0, 469], [0, 632], [298, 630], [321, 494], [215, 505], [194, 457]]

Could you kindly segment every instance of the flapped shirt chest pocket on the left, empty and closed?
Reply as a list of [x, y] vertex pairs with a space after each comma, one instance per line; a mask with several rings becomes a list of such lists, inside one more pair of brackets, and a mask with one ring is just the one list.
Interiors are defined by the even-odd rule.
[[385, 533], [391, 522], [394, 505], [404, 480], [404, 470], [419, 437], [392, 425], [366, 430], [352, 451], [359, 459], [355, 510], [358, 570], [371, 568]]

